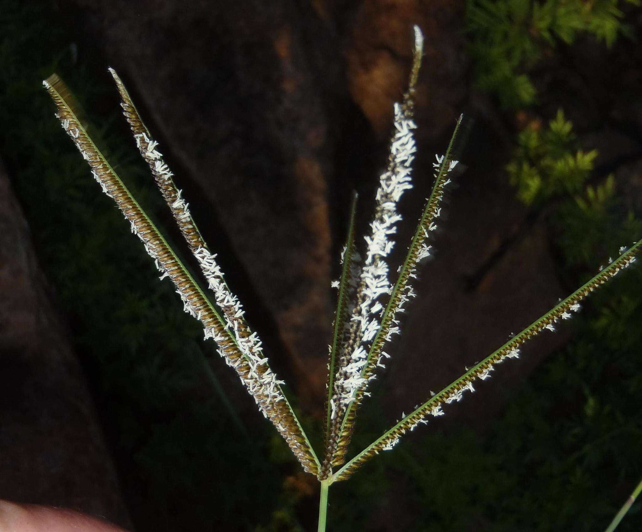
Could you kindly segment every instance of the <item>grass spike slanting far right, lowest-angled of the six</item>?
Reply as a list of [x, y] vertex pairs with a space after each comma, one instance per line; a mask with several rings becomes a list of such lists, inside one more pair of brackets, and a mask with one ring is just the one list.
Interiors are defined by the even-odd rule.
[[462, 399], [464, 391], [474, 391], [473, 381], [476, 379], [486, 379], [489, 377], [489, 372], [494, 369], [494, 365], [505, 360], [506, 358], [519, 357], [519, 349], [526, 340], [539, 334], [544, 329], [554, 330], [554, 324], [560, 319], [568, 319], [571, 317], [571, 312], [578, 311], [580, 308], [580, 301], [588, 296], [594, 289], [602, 286], [607, 280], [611, 279], [624, 268], [636, 261], [636, 254], [642, 250], [642, 240], [634, 244], [629, 250], [621, 253], [620, 257], [611, 264], [608, 264], [602, 271], [589, 280], [582, 287], [578, 288], [575, 292], [569, 295], [566, 299], [555, 305], [548, 313], [544, 314], [534, 323], [526, 327], [519, 334], [512, 337], [498, 350], [477, 363], [461, 377], [456, 379], [444, 388], [439, 393], [433, 395], [426, 402], [421, 404], [407, 416], [399, 421], [394, 427], [388, 430], [380, 438], [377, 438], [366, 449], [362, 450], [354, 458], [351, 459], [340, 470], [329, 477], [329, 480], [335, 482], [345, 480], [354, 473], [363, 463], [374, 457], [381, 450], [392, 449], [407, 431], [412, 431], [420, 423], [427, 423], [426, 417], [443, 415], [442, 405]]

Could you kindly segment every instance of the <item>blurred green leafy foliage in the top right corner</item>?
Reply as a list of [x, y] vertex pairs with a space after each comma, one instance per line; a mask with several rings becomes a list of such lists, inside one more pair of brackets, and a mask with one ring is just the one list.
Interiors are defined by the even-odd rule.
[[[626, 0], [639, 5], [639, 0]], [[559, 42], [582, 34], [611, 46], [629, 33], [621, 0], [467, 0], [466, 32], [476, 85], [504, 108], [537, 100], [529, 71]]]

